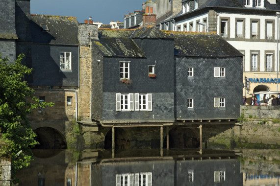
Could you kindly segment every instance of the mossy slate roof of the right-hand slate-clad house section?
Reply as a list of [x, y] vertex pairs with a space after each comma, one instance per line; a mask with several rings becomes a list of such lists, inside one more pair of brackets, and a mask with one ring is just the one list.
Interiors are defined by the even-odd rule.
[[215, 32], [178, 32], [166, 31], [174, 40], [174, 55], [188, 57], [242, 57], [236, 48], [231, 46]]

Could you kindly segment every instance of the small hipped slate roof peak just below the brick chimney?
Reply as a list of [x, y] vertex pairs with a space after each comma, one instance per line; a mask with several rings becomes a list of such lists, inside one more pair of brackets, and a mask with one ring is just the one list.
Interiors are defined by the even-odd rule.
[[139, 28], [136, 29], [130, 36], [130, 38], [161, 38], [161, 39], [171, 39], [172, 37], [157, 28]]

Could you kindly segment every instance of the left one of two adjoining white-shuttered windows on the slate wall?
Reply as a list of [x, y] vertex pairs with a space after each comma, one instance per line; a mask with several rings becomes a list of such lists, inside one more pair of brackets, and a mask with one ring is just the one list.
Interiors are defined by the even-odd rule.
[[[126, 100], [127, 100], [127, 104], [125, 104]], [[134, 110], [133, 93], [116, 93], [116, 111], [133, 111], [133, 110]]]

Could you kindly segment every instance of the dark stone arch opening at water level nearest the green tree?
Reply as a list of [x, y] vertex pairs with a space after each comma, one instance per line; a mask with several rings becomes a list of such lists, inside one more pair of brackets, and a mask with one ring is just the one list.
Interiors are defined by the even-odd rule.
[[51, 127], [40, 127], [34, 130], [40, 143], [33, 149], [67, 149], [65, 137]]

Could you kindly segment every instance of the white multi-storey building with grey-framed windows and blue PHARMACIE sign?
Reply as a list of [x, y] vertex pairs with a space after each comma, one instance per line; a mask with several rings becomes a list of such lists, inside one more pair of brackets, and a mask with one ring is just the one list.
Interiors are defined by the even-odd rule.
[[277, 90], [279, 0], [182, 0], [181, 5], [161, 29], [217, 32], [244, 54], [243, 75], [250, 78], [244, 94]]

